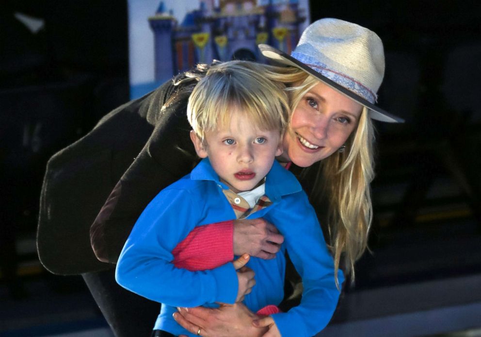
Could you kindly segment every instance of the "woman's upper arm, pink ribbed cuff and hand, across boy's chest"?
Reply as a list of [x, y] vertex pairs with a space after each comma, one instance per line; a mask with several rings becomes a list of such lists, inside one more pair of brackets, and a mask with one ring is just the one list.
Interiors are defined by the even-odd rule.
[[172, 251], [177, 268], [206, 270], [248, 253], [274, 258], [284, 237], [264, 219], [229, 220], [195, 227]]

